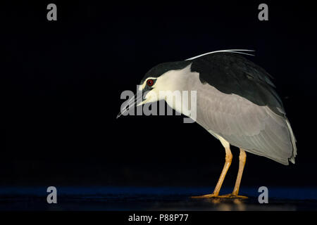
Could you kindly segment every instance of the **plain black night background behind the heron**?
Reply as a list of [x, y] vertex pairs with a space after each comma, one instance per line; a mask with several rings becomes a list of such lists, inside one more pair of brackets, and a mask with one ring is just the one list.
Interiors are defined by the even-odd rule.
[[316, 12], [266, 2], [259, 21], [260, 3], [1, 3], [1, 186], [212, 190], [225, 153], [207, 131], [179, 116], [116, 115], [121, 92], [154, 65], [220, 49], [256, 50], [248, 58], [275, 77], [297, 138], [295, 165], [248, 154], [242, 186], [316, 186]]

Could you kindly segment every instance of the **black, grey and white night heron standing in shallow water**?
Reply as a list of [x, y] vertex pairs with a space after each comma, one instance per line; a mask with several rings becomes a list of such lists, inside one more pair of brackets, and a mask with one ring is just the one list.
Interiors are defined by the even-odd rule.
[[[248, 198], [239, 195], [247, 153], [260, 155], [282, 165], [295, 163], [297, 146], [290, 121], [278, 96], [272, 76], [247, 56], [254, 50], [212, 51], [151, 68], [140, 82], [141, 100], [134, 105], [160, 101], [159, 91], [196, 91], [196, 122], [220, 141], [225, 149], [225, 165], [213, 193], [192, 198]], [[178, 105], [164, 98], [178, 113]], [[139, 103], [137, 103], [139, 101]], [[184, 101], [182, 98], [175, 101]], [[117, 118], [127, 108], [121, 108]], [[232, 193], [219, 195], [232, 162], [230, 146], [240, 148], [239, 169]]]

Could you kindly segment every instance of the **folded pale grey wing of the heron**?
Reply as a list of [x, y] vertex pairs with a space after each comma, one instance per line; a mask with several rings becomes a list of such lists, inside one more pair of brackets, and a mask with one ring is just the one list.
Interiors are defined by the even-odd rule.
[[284, 165], [294, 163], [297, 149], [290, 122], [266, 105], [204, 84], [197, 93], [197, 122], [233, 146]]

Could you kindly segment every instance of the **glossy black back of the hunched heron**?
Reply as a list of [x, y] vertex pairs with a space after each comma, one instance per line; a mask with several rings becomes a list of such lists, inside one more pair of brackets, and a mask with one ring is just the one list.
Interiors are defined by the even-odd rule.
[[268, 105], [283, 115], [282, 101], [271, 82], [271, 75], [238, 53], [212, 53], [192, 61], [192, 71], [199, 72], [203, 83], [225, 94], [237, 94], [256, 105]]

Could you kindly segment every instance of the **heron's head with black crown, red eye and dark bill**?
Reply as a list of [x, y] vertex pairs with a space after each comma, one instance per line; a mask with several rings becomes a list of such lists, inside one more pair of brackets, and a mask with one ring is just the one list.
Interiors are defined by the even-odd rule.
[[[139, 94], [136, 94], [132, 101], [128, 102], [129, 108], [134, 105], [144, 105], [145, 103], [153, 103], [155, 101], [163, 100], [164, 97], [160, 91], [175, 91], [178, 89], [178, 84], [182, 81], [178, 75], [178, 71], [184, 69], [189, 65], [190, 61], [178, 61], [161, 63], [151, 68], [143, 77], [139, 84]], [[128, 105], [127, 104], [127, 105]], [[124, 112], [119, 113], [118, 117]]]

